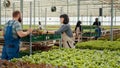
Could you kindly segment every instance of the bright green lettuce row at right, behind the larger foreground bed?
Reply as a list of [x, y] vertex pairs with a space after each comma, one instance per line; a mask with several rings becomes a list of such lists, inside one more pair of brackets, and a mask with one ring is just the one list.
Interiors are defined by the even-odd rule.
[[76, 44], [78, 49], [120, 50], [120, 41], [95, 40]]

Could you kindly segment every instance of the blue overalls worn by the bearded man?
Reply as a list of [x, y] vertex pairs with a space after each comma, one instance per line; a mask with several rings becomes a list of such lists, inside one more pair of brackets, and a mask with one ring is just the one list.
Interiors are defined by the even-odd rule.
[[5, 44], [2, 50], [2, 59], [11, 60], [13, 58], [18, 58], [19, 56], [19, 38], [15, 39], [13, 37], [13, 24], [15, 21], [8, 22], [8, 26], [5, 31]]

